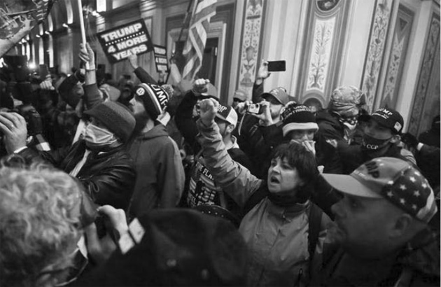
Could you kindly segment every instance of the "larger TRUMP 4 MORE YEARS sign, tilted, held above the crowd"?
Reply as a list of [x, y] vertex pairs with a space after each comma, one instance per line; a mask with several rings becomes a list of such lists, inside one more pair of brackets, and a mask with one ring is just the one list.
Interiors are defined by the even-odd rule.
[[137, 20], [97, 34], [99, 43], [111, 63], [123, 61], [132, 53], [144, 54], [153, 50], [144, 20]]

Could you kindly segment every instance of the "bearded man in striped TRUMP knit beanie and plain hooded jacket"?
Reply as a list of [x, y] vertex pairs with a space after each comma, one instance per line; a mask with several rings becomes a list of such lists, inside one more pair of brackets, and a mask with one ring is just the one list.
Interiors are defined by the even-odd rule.
[[168, 101], [169, 94], [162, 87], [148, 83], [138, 85], [130, 100], [137, 125], [128, 151], [138, 174], [130, 216], [158, 207], [176, 207], [181, 199], [185, 174], [179, 148], [157, 120]]

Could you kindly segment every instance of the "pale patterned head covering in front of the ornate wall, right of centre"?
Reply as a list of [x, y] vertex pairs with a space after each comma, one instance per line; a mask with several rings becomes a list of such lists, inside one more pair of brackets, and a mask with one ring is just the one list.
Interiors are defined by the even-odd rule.
[[343, 85], [332, 92], [328, 109], [340, 116], [355, 116], [360, 104], [360, 90], [353, 85]]

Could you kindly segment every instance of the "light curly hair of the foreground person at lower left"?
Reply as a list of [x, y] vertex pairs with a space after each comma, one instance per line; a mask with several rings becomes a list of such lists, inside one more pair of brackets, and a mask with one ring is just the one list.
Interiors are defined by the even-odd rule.
[[80, 235], [80, 186], [45, 165], [3, 166], [0, 179], [0, 286], [64, 280]]

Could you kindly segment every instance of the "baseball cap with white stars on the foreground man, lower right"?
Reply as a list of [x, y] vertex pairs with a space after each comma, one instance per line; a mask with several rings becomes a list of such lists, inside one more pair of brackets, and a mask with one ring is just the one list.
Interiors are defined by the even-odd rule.
[[385, 198], [426, 223], [437, 212], [428, 181], [412, 165], [398, 158], [375, 158], [350, 175], [323, 174], [323, 178], [333, 188], [348, 195]]

